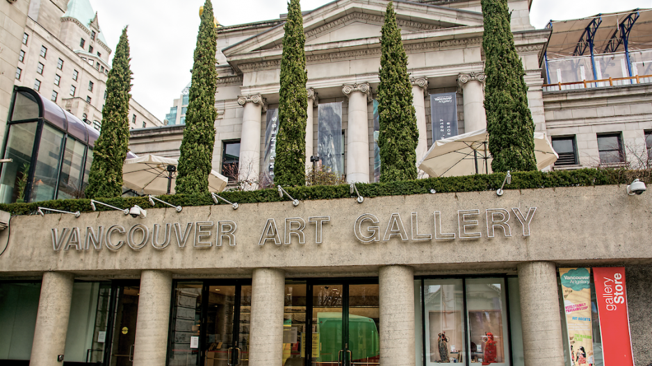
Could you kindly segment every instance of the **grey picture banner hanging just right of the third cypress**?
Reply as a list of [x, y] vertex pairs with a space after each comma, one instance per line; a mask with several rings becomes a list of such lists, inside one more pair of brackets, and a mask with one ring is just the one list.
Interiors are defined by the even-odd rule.
[[317, 154], [321, 166], [344, 174], [342, 102], [319, 103], [317, 109]]

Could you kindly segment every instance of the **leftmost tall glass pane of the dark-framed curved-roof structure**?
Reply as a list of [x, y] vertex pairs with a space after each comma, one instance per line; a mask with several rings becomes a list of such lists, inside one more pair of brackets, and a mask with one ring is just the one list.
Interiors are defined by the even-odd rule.
[[[16, 103], [18, 102], [17, 98]], [[16, 109], [17, 106], [14, 106], [14, 117], [16, 117]], [[36, 126], [37, 122], [9, 126], [4, 158], [13, 161], [2, 165], [2, 175], [0, 176], [0, 201], [2, 203], [25, 201]]]

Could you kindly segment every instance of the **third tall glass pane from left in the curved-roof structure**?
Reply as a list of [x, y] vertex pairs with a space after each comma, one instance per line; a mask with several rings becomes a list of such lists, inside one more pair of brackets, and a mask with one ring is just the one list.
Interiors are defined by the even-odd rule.
[[84, 150], [84, 144], [74, 138], [67, 138], [65, 152], [63, 153], [63, 163], [61, 163], [57, 199], [77, 199], [84, 197], [84, 187], [81, 185]]

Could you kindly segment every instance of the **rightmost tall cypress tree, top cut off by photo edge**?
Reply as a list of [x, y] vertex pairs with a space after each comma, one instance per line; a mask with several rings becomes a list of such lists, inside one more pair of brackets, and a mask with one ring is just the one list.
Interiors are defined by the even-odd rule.
[[484, 109], [489, 151], [494, 156], [491, 169], [494, 172], [536, 170], [535, 124], [528, 107], [523, 63], [514, 47], [507, 0], [482, 0], [482, 15], [482, 48], [487, 58]]

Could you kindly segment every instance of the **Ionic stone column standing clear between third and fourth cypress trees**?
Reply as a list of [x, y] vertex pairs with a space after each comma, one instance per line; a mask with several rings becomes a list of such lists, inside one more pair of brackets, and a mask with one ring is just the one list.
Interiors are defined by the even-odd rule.
[[369, 183], [369, 122], [367, 103], [372, 101], [369, 83], [344, 85], [349, 97], [346, 137], [346, 181]]

